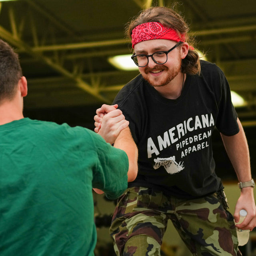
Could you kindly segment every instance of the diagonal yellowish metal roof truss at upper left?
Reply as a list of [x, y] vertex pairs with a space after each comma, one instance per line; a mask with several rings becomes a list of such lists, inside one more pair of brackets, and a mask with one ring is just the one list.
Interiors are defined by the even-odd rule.
[[[94, 82], [94, 84], [88, 84], [82, 79], [83, 66], [81, 62], [73, 61], [73, 67], [71, 69], [66, 68], [63, 59], [64, 52], [60, 52], [59, 47], [57, 49], [51, 49], [51, 56], [46, 56], [45, 54], [44, 47], [50, 47], [45, 46], [45, 42], [51, 41], [52, 44], [54, 44], [56, 33], [59, 33], [60, 30], [62, 33], [66, 34], [66, 36], [72, 36], [74, 38], [78, 38], [78, 36], [32, 0], [26, 0], [24, 1], [24, 4], [27, 5], [28, 13], [22, 16], [15, 13], [12, 5], [8, 6], [9, 24], [5, 28], [0, 26], [0, 36], [13, 46], [17, 47], [20, 52], [26, 52], [36, 60], [40, 60], [42, 63], [57, 71], [62, 76], [73, 80], [77, 87], [88, 92], [98, 100], [110, 103], [110, 99], [101, 95], [100, 90], [98, 89], [98, 81]], [[0, 11], [1, 10], [2, 3], [0, 2]], [[2, 13], [0, 13], [0, 15], [1, 14]], [[51, 34], [47, 34], [48, 31], [45, 31], [45, 34], [39, 38], [37, 30], [40, 24], [35, 22], [36, 19], [38, 19], [38, 16], [41, 16], [43, 22], [48, 22], [50, 24], [49, 29], [52, 32]], [[9, 29], [7, 27], [9, 27]], [[30, 43], [25, 42], [24, 40], [24, 28], [30, 28], [31, 34], [29, 37], [32, 39]], [[28, 30], [26, 30], [26, 32], [28, 32]], [[42, 47], [42, 49], [40, 49], [40, 47]], [[64, 46], [61, 50], [66, 51], [67, 49], [68, 48]]]

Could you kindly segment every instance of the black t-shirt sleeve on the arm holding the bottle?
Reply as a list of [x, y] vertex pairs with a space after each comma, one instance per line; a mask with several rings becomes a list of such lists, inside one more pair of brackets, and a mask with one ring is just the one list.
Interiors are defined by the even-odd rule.
[[232, 136], [239, 132], [237, 113], [231, 101], [231, 92], [228, 81], [220, 71], [220, 93], [218, 102], [218, 117], [216, 128], [226, 136]]

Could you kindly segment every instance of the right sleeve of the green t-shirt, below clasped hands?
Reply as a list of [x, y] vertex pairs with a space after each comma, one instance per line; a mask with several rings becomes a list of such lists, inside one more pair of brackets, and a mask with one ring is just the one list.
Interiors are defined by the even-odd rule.
[[98, 162], [93, 171], [92, 186], [106, 193], [107, 198], [118, 198], [128, 186], [128, 156], [114, 148], [98, 134], [92, 134]]

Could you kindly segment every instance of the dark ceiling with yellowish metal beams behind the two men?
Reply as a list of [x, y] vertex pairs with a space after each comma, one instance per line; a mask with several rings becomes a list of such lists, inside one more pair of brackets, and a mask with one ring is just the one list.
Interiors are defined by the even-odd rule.
[[[138, 74], [117, 70], [107, 60], [131, 53], [124, 38], [125, 24], [143, 8], [173, 2], [0, 2], [0, 38], [19, 53], [28, 80], [26, 113], [74, 124], [89, 122], [87, 116], [92, 124], [96, 108], [111, 103], [120, 88]], [[248, 105], [237, 108], [240, 119], [256, 125], [255, 0], [181, 0], [175, 8], [190, 24], [196, 47], [222, 68], [230, 88], [245, 98]]]

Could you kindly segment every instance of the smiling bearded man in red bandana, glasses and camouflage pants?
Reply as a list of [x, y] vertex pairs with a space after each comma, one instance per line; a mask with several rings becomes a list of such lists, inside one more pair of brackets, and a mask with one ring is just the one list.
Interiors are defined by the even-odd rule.
[[[160, 255], [168, 219], [193, 255], [241, 255], [234, 225], [240, 210], [248, 216], [237, 227], [256, 226], [248, 144], [228, 81], [215, 64], [199, 60], [188, 30], [170, 8], [150, 8], [134, 18], [126, 32], [140, 75], [94, 117], [98, 132], [104, 114], [120, 108], [129, 128], [115, 143], [138, 157], [138, 175], [129, 168], [128, 189], [110, 227], [117, 255]], [[242, 182], [234, 218], [214, 170], [215, 127]], [[138, 156], [129, 150], [134, 142]]]

